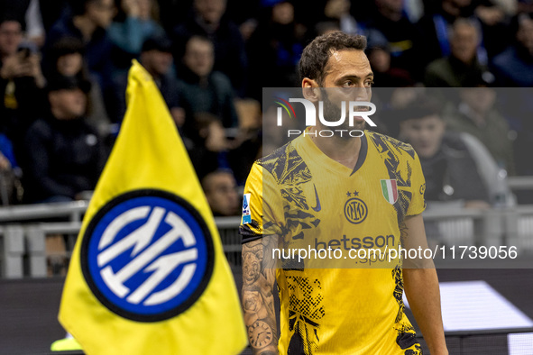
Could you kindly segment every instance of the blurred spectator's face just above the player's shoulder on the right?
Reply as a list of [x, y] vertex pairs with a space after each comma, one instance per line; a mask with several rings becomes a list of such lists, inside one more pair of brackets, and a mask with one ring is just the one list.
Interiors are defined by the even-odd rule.
[[401, 123], [401, 133], [422, 158], [431, 158], [440, 148], [446, 124], [437, 114]]

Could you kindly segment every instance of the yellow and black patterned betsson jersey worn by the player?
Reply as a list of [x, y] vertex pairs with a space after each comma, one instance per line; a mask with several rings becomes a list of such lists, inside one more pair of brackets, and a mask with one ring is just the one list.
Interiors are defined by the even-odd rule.
[[[379, 133], [361, 140], [354, 169], [303, 135], [256, 161], [244, 189], [243, 241], [275, 234], [289, 250], [398, 248], [400, 223], [425, 208], [418, 156]], [[280, 354], [421, 353], [403, 312], [400, 262], [343, 262], [352, 264], [291, 259], [276, 270]]]

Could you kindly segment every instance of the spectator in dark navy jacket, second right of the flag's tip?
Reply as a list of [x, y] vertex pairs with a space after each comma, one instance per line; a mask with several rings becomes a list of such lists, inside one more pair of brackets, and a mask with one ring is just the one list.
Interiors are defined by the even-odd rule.
[[188, 40], [183, 56], [184, 68], [179, 76], [186, 133], [194, 126], [194, 115], [201, 112], [216, 115], [225, 128], [238, 125], [231, 83], [223, 73], [213, 71], [214, 64], [215, 52], [211, 41], [201, 36]]

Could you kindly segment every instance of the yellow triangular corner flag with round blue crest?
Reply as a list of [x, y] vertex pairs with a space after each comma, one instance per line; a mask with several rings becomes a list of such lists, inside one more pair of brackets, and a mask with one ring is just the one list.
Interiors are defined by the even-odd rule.
[[247, 343], [207, 200], [133, 61], [121, 132], [70, 260], [60, 323], [87, 354], [237, 354]]

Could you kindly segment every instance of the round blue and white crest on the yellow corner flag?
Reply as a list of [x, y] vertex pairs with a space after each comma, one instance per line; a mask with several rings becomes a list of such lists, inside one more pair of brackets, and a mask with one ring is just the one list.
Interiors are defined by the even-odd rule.
[[188, 202], [160, 190], [111, 200], [88, 225], [81, 248], [83, 274], [98, 300], [138, 322], [187, 310], [214, 265], [206, 223]]

